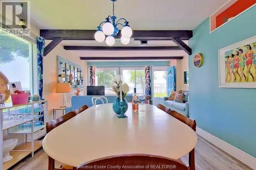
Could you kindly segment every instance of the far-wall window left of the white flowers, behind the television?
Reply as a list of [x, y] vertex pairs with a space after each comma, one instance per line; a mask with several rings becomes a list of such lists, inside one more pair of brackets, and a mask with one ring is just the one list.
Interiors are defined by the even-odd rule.
[[118, 68], [96, 68], [95, 85], [105, 86], [105, 94], [115, 94], [110, 88], [111, 81], [116, 77]]

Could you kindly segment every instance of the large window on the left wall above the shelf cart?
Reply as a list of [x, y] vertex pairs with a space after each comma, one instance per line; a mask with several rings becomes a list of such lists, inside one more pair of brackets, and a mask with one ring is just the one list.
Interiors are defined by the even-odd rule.
[[0, 71], [10, 82], [19, 82], [23, 90], [33, 92], [33, 44], [13, 35], [0, 35]]

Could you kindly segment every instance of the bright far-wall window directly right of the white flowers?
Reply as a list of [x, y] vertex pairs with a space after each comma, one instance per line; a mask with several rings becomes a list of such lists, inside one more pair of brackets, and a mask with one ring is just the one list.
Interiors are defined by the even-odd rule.
[[129, 93], [145, 93], [145, 70], [144, 68], [122, 68], [123, 82], [130, 86]]

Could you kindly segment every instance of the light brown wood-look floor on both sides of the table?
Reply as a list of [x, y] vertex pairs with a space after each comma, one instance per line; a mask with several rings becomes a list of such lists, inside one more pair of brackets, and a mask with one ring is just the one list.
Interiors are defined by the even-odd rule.
[[[195, 155], [197, 170], [251, 169], [200, 136], [198, 136]], [[181, 160], [184, 163], [188, 163], [187, 158], [188, 156], [184, 156], [181, 158]], [[60, 163], [56, 163], [56, 165], [58, 166]], [[43, 149], [40, 149], [35, 153], [34, 157], [28, 157], [27, 159], [18, 163], [15, 167], [11, 168], [11, 170], [47, 170], [47, 168], [48, 156]]]

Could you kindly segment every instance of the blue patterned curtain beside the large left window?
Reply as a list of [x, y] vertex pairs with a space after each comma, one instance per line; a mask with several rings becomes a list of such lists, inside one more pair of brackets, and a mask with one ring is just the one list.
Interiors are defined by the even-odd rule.
[[44, 57], [44, 47], [45, 47], [45, 39], [42, 37], [36, 37], [36, 46], [37, 46], [37, 79], [38, 79], [38, 90], [39, 97], [42, 99], [42, 63]]

